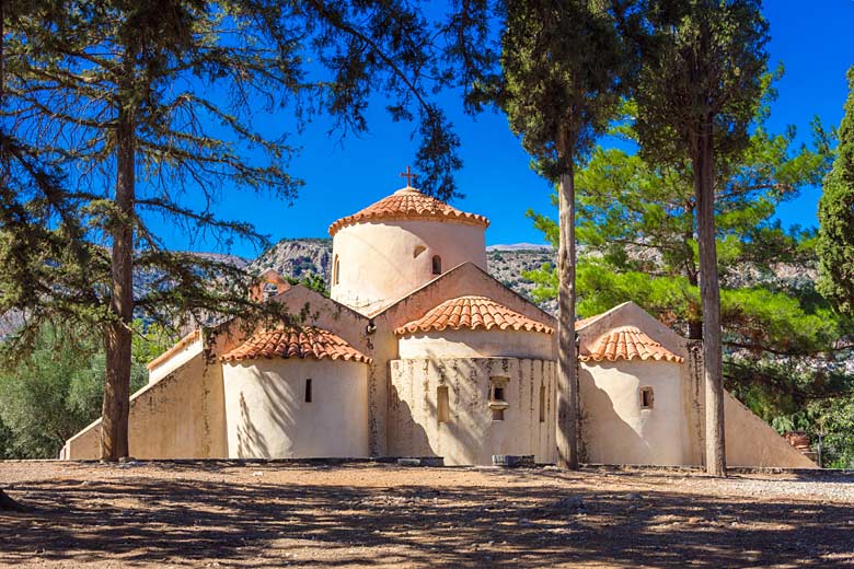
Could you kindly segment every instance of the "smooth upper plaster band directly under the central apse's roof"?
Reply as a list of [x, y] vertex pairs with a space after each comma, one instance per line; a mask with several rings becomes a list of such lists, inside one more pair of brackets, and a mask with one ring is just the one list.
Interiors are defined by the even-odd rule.
[[493, 328], [419, 332], [401, 337], [400, 357], [407, 358], [552, 358], [550, 334]]

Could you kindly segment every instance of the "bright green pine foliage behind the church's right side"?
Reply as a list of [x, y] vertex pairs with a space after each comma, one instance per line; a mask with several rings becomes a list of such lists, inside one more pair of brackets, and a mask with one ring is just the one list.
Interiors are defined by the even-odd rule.
[[[815, 144], [808, 148], [794, 144], [794, 127], [769, 132], [774, 93], [768, 93], [746, 152], [718, 161], [716, 186], [724, 189], [715, 202], [715, 229], [724, 381], [772, 420], [844, 392], [851, 383], [844, 361], [854, 346], [846, 339], [852, 323], [832, 313], [808, 278], [818, 265], [815, 230], [785, 230], [776, 219], [781, 204], [822, 179], [832, 163], [832, 136], [813, 124]], [[626, 108], [630, 116], [634, 111]], [[631, 123], [619, 123], [612, 135], [636, 140]], [[600, 147], [579, 170], [577, 188], [579, 314], [592, 316], [631, 300], [680, 334], [702, 339], [690, 163], [651, 164]], [[541, 213], [530, 217], [556, 246], [556, 222]], [[523, 276], [536, 283], [536, 300], [556, 297], [551, 265]]]

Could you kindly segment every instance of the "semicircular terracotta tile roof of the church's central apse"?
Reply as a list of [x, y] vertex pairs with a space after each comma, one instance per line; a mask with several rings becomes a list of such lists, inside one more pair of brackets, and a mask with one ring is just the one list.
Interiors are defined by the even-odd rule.
[[513, 329], [553, 334], [554, 329], [541, 322], [498, 304], [486, 297], [460, 297], [442, 302], [423, 317], [405, 324], [395, 334], [445, 329]]

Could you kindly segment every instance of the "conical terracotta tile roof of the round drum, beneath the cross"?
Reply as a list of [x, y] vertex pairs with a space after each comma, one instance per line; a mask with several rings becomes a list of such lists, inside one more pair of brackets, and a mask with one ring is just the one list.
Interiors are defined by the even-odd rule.
[[361, 221], [380, 219], [451, 219], [483, 225], [489, 225], [489, 220], [476, 213], [466, 213], [452, 208], [445, 201], [422, 194], [415, 188], [399, 189], [391, 196], [368, 206], [358, 213], [342, 218], [330, 225], [330, 235], [335, 235], [342, 228]]

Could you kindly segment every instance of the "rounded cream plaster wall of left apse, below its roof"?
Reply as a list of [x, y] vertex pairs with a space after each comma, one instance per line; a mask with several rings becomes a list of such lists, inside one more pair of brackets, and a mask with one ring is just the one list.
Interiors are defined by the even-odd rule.
[[[229, 457], [363, 457], [368, 365], [272, 359], [223, 364]], [[305, 380], [312, 402], [305, 403]]]

